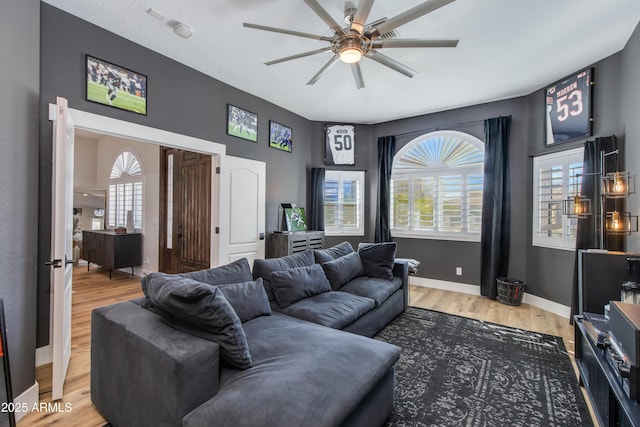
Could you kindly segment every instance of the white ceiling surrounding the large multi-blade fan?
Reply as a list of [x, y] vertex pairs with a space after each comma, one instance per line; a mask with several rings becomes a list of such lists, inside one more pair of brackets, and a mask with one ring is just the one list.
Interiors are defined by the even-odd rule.
[[[638, 0], [457, 0], [396, 29], [399, 38], [459, 39], [457, 48], [384, 49], [418, 74], [363, 59], [366, 87], [358, 90], [341, 62], [306, 85], [330, 53], [264, 65], [327, 45], [242, 26], [331, 36], [302, 0], [44, 1], [307, 119], [368, 124], [532, 93], [623, 49], [640, 19]], [[318, 2], [344, 22], [345, 0]], [[368, 22], [421, 2], [377, 0]], [[175, 21], [193, 36], [176, 36]]]

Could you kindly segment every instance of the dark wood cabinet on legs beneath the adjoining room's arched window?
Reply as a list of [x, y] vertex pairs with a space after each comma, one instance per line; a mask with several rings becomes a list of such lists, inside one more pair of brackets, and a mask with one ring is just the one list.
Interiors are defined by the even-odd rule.
[[118, 268], [142, 265], [142, 234], [118, 234], [111, 230], [92, 230], [82, 232], [82, 257], [91, 263], [111, 271]]

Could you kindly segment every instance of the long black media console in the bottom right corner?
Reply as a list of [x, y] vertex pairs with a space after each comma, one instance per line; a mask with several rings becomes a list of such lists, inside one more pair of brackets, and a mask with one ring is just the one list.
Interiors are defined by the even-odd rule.
[[582, 316], [574, 317], [576, 364], [600, 426], [640, 427], [640, 403], [624, 393], [604, 348], [596, 345], [583, 321]]

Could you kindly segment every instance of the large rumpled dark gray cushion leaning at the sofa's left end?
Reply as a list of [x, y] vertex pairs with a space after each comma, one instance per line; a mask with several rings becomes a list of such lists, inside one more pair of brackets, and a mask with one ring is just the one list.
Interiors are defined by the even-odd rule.
[[152, 273], [147, 297], [174, 328], [220, 345], [222, 358], [240, 369], [251, 367], [251, 354], [240, 318], [220, 288], [188, 277]]

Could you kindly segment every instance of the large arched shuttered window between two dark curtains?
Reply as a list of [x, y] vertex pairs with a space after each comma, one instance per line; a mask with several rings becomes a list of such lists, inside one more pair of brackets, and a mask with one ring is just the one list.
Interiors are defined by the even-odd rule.
[[391, 233], [480, 241], [484, 143], [462, 132], [415, 138], [394, 157]]

